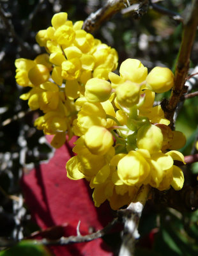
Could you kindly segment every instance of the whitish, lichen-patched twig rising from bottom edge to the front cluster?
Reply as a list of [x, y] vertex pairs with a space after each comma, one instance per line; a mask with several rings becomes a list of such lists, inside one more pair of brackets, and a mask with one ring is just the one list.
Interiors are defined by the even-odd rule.
[[142, 186], [136, 196], [135, 202], [128, 205], [124, 210], [119, 210], [119, 217], [125, 224], [123, 230], [123, 242], [119, 250], [119, 256], [132, 256], [134, 253], [135, 242], [139, 239], [137, 230], [142, 210], [149, 196], [150, 186]]

